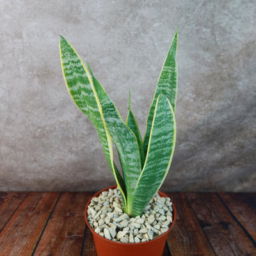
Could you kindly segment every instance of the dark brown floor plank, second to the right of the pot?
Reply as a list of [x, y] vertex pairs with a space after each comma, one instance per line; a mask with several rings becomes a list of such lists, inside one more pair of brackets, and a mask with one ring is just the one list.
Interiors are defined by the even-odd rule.
[[186, 195], [216, 255], [256, 255], [252, 241], [215, 193]]

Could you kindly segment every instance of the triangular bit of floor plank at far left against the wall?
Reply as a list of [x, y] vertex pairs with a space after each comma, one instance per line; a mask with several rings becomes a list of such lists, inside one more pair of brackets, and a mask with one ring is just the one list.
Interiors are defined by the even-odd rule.
[[27, 194], [26, 192], [0, 193], [0, 232]]

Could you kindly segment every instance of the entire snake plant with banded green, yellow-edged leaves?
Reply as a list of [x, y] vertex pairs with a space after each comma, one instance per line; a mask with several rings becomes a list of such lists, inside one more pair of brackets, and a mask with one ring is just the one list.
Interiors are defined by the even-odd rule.
[[[97, 129], [104, 154], [121, 195], [124, 212], [141, 215], [157, 193], [170, 169], [176, 141], [177, 31], [164, 61], [142, 140], [131, 111], [126, 123], [109, 99], [86, 61], [60, 36], [60, 58], [65, 84], [77, 107]], [[118, 152], [122, 174], [113, 161], [113, 145]]]

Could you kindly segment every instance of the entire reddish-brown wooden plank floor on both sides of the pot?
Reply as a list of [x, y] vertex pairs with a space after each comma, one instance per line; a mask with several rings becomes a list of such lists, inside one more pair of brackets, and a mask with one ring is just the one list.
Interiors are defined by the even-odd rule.
[[[256, 256], [256, 193], [166, 194], [177, 221], [164, 256]], [[83, 215], [92, 195], [0, 192], [0, 255], [97, 256]]]

